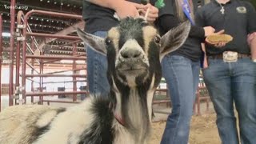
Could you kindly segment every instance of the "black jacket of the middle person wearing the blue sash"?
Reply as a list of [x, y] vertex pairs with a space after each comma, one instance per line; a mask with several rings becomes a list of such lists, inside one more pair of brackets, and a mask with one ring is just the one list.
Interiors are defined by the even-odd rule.
[[[156, 22], [160, 34], [166, 34], [168, 30], [181, 23], [177, 18], [175, 0], [165, 0], [165, 4], [166, 6], [159, 10], [159, 18]], [[194, 10], [196, 10], [196, 6], [194, 6]], [[201, 42], [204, 41], [204, 35], [202, 27], [192, 26], [184, 45], [171, 55], [182, 55], [192, 61], [200, 60], [202, 56]]]

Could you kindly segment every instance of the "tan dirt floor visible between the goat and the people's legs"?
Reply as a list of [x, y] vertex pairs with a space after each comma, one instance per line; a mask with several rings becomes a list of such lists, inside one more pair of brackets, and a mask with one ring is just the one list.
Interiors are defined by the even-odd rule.
[[[190, 127], [190, 144], [219, 144], [215, 114], [193, 116]], [[162, 138], [166, 122], [153, 122], [150, 144], [158, 144]]]

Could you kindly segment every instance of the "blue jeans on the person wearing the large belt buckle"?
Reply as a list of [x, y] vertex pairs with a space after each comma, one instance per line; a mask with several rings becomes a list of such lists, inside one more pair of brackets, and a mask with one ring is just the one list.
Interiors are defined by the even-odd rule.
[[241, 143], [256, 143], [256, 63], [250, 58], [239, 58], [237, 62], [209, 58], [209, 67], [203, 70], [203, 75], [217, 113], [222, 143], [239, 143], [234, 104]]

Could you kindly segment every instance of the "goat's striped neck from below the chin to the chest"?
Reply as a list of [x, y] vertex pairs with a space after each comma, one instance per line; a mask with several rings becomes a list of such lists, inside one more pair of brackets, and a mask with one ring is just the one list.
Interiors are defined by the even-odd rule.
[[[152, 115], [152, 98], [154, 94], [154, 75], [152, 79], [142, 86], [123, 86], [121, 83], [114, 82], [112, 78], [111, 95], [115, 96], [114, 115], [122, 118], [125, 129], [137, 142], [146, 139], [150, 131], [150, 122]], [[116, 118], [117, 119], [117, 118]], [[114, 127], [118, 131], [122, 131], [120, 121], [114, 122]], [[144, 142], [141, 142], [144, 143]]]

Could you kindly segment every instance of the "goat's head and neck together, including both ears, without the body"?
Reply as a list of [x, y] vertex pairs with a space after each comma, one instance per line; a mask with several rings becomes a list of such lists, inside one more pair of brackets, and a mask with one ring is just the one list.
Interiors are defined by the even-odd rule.
[[189, 31], [190, 22], [185, 22], [161, 38], [154, 26], [141, 18], [123, 19], [106, 38], [78, 30], [87, 45], [106, 54], [115, 118], [140, 139], [138, 143], [145, 143], [150, 127], [151, 102], [162, 78], [160, 62], [182, 46]]

